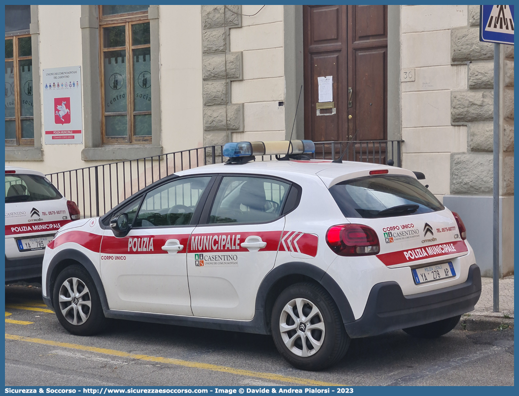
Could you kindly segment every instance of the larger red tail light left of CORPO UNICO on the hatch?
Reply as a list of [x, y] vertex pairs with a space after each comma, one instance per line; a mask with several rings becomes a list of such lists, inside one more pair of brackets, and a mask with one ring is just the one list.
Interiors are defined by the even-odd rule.
[[369, 256], [380, 251], [375, 230], [362, 224], [338, 224], [326, 232], [326, 243], [339, 256]]

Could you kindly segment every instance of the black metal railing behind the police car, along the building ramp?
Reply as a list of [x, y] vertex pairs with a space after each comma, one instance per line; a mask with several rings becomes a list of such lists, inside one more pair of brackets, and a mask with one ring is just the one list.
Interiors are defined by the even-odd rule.
[[[388, 160], [393, 160], [396, 166], [401, 166], [403, 140], [314, 143], [315, 159], [337, 159], [347, 150], [344, 161], [386, 164]], [[97, 217], [163, 177], [186, 169], [226, 161], [222, 148], [223, 146], [198, 147], [154, 157], [55, 172], [46, 176], [63, 196], [77, 203], [82, 217]], [[256, 158], [261, 161], [273, 159], [273, 155]]]

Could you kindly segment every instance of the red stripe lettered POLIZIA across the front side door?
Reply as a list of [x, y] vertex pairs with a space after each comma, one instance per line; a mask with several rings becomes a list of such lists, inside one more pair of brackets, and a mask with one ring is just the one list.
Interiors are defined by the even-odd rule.
[[168, 239], [177, 239], [184, 247], [177, 253], [185, 253], [189, 234], [180, 235], [135, 235], [124, 238], [105, 235], [101, 245], [104, 254], [168, 254], [162, 250]]

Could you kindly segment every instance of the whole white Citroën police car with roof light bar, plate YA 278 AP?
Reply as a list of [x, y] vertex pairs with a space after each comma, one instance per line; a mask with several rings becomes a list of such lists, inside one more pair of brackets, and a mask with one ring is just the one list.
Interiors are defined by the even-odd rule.
[[225, 164], [65, 225], [46, 248], [45, 302], [79, 335], [105, 318], [272, 334], [305, 370], [341, 359], [350, 338], [454, 329], [481, 294], [459, 216], [406, 169], [251, 161], [314, 149], [230, 143]]

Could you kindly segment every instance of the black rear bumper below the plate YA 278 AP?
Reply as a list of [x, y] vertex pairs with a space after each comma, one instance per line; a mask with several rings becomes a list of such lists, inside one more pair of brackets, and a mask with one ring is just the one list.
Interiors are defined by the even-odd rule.
[[419, 326], [470, 312], [480, 295], [481, 273], [476, 264], [469, 267], [462, 284], [425, 293], [404, 296], [397, 282], [382, 282], [371, 289], [364, 314], [344, 326], [351, 338]]

